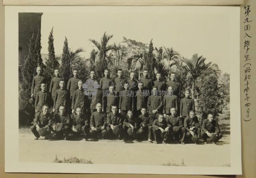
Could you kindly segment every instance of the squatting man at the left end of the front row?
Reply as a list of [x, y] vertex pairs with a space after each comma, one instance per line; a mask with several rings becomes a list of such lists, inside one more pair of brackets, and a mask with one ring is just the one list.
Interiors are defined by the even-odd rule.
[[34, 136], [36, 136], [35, 140], [38, 140], [40, 136], [44, 136], [44, 139], [48, 139], [51, 133], [52, 115], [49, 113], [49, 107], [47, 105], [42, 106], [42, 112], [36, 113], [33, 124], [30, 129]]

